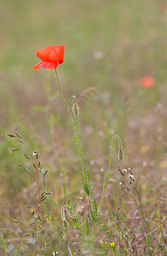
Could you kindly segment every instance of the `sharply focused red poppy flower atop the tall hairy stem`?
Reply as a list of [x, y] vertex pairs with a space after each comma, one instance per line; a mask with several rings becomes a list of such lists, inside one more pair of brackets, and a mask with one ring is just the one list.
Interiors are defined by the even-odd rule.
[[61, 45], [50, 45], [45, 49], [37, 49], [37, 57], [42, 61], [34, 66], [34, 70], [40, 67], [56, 69], [64, 58], [65, 44]]

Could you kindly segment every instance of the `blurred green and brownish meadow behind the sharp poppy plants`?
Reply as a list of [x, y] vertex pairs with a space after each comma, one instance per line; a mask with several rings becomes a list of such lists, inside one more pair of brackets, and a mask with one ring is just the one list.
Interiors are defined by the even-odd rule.
[[[0, 255], [166, 255], [167, 2], [1, 0], [0, 31]], [[66, 238], [62, 231], [63, 201], [85, 193], [54, 71], [33, 71], [37, 49], [52, 44], [66, 45], [58, 73], [70, 109], [72, 96], [78, 99], [83, 157], [98, 205], [112, 136], [123, 143], [121, 162], [114, 144], [96, 251], [79, 240], [75, 224]], [[141, 86], [147, 76], [154, 79], [150, 88]], [[14, 132], [19, 140], [7, 136]], [[33, 159], [35, 150], [52, 192], [49, 216], [38, 228], [31, 224], [37, 183], [25, 156]], [[134, 172], [150, 244], [138, 208], [119, 185], [118, 166]]]

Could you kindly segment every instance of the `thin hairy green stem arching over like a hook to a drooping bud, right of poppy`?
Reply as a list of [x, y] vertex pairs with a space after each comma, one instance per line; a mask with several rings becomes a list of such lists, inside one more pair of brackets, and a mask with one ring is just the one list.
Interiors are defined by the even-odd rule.
[[111, 145], [111, 151], [110, 151], [109, 166], [108, 166], [107, 174], [105, 175], [105, 181], [104, 181], [103, 191], [102, 191], [102, 195], [101, 195], [101, 201], [100, 201], [100, 205], [99, 205], [99, 209], [98, 209], [98, 215], [99, 215], [99, 213], [101, 211], [101, 204], [102, 204], [103, 197], [105, 195], [105, 191], [107, 189], [107, 185], [108, 185], [108, 182], [109, 182], [109, 173], [110, 173], [110, 169], [111, 169], [111, 165], [112, 165], [112, 151], [113, 151], [114, 141], [115, 141], [116, 138], [118, 139], [118, 148], [119, 148], [119, 150], [122, 150], [121, 139], [120, 139], [120, 137], [115, 135], [114, 137], [112, 137], [112, 145]]

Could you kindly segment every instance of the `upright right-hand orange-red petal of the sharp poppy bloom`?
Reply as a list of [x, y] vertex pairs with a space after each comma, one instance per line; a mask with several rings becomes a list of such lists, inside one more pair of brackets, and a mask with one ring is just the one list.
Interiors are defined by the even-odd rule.
[[52, 50], [51, 53], [49, 54], [49, 61], [51, 62], [57, 61], [59, 62], [59, 64], [62, 63], [64, 58], [64, 52], [65, 52], [65, 44], [57, 45], [55, 49]]

